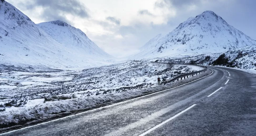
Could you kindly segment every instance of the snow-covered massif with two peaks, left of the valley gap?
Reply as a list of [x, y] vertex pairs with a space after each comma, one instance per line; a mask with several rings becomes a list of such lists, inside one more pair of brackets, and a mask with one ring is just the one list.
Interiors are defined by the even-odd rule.
[[39, 26], [13, 5], [1, 0], [0, 62], [52, 68], [90, 67], [109, 64], [113, 58], [81, 30], [67, 23], [53, 21]]

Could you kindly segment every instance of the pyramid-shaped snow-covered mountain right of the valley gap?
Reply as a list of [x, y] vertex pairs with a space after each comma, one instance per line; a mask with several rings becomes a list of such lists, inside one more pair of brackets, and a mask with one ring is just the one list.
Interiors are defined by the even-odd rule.
[[155, 58], [174, 54], [215, 53], [244, 46], [256, 41], [246, 36], [212, 11], [190, 17], [164, 37], [157, 35], [130, 59]]

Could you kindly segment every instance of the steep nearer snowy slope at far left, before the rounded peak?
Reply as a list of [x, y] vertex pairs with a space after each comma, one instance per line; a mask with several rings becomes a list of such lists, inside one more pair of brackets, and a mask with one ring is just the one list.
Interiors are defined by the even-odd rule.
[[[96, 45], [89, 48], [74, 48], [76, 47], [60, 44], [13, 5], [4, 0], [0, 1], [2, 64], [45, 65], [51, 68], [90, 67], [108, 64], [107, 59], [112, 58]], [[88, 57], [88, 52], [96, 50], [97, 55], [90, 54], [91, 57]], [[101, 59], [101, 55], [104, 59]], [[93, 57], [95, 59], [92, 60]]]

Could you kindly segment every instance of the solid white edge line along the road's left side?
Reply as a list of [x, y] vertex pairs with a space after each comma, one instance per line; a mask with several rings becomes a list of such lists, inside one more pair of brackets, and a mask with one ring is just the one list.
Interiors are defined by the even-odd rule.
[[[210, 70], [211, 70], [211, 69], [210, 69]], [[212, 73], [213, 73], [213, 70], [211, 70], [211, 71], [212, 71]], [[212, 74], [212, 73], [211, 73], [211, 74]], [[211, 75], [211, 74], [210, 74], [210, 75]], [[210, 76], [210, 75], [208, 75], [208, 76]], [[202, 78], [206, 78], [206, 77], [208, 77], [208, 76], [205, 76], [205, 77], [202, 77]], [[200, 80], [200, 79], [202, 79], [202, 78], [199, 78], [199, 79], [197, 79], [197, 80]], [[194, 81], [192, 81], [192, 82], [195, 82], [195, 81], [197, 81], [197, 80], [194, 80]], [[192, 83], [192, 82], [189, 82], [189, 83], [186, 83], [186, 84], [183, 84], [183, 85], [174, 87], [174, 88], [170, 88], [170, 89], [175, 89], [175, 88], [178, 88], [178, 87], [181, 87], [181, 86], [190, 84], [190, 83]], [[143, 97], [146, 97], [146, 96], [154, 95], [154, 94], [157, 94], [157, 93], [160, 93], [160, 92], [164, 92], [164, 91], [167, 91], [167, 90], [170, 90], [170, 89], [162, 90], [162, 91], [159, 91], [159, 92], [155, 92], [155, 93], [152, 93], [152, 94], [144, 95], [144, 96], [137, 97], [137, 98], [134, 98], [134, 99], [139, 99], [139, 98], [143, 98]], [[93, 110], [88, 110], [88, 111], [80, 112], [80, 113], [77, 113], [77, 114], [69, 115], [69, 116], [66, 116], [66, 117], [63, 117], [63, 118], [59, 118], [59, 119], [55, 119], [55, 120], [50, 120], [50, 121], [43, 122], [43, 123], [39, 123], [39, 124], [36, 124], [36, 125], [33, 125], [33, 126], [28, 126], [28, 127], [24, 127], [24, 128], [17, 129], [17, 130], [8, 131], [8, 132], [5, 132], [5, 133], [0, 133], [0, 136], [1, 136], [1, 135], [4, 135], [4, 134], [11, 133], [11, 132], [15, 132], [15, 131], [19, 131], [19, 130], [24, 130], [24, 129], [31, 128], [31, 127], [35, 127], [35, 126], [39, 126], [39, 125], [42, 125], [42, 124], [54, 122], [54, 121], [57, 121], [57, 120], [62, 120], [62, 119], [66, 119], [66, 118], [69, 118], [69, 117], [77, 116], [77, 115], [80, 115], [80, 114], [83, 114], [83, 113], [87, 113], [87, 112], [91, 112], [91, 111], [95, 111], [95, 110], [101, 110], [102, 108], [112, 107], [112, 106], [115, 106], [115, 105], [118, 105], [118, 104], [122, 104], [122, 103], [124, 103], [124, 102], [131, 101], [131, 100], [134, 100], [134, 99], [125, 100], [125, 101], [122, 101], [122, 102], [114, 103], [114, 104], [107, 105], [107, 106], [104, 106], [104, 107], [100, 107], [100, 108], [97, 108], [97, 109], [93, 109]]]

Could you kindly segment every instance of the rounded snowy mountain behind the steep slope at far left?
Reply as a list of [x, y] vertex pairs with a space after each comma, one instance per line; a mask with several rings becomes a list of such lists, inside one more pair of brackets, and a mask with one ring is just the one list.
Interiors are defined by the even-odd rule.
[[93, 43], [80, 29], [70, 26], [66, 22], [56, 20], [37, 24], [40, 28], [65, 47], [76, 53], [84, 54], [88, 58], [112, 58]]

